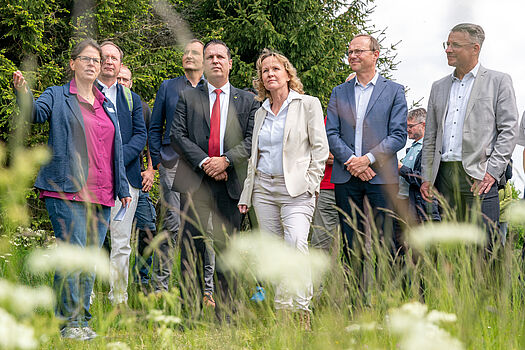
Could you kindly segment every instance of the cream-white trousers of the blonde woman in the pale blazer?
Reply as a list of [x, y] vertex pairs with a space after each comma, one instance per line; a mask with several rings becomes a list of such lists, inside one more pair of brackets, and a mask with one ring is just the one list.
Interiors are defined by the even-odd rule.
[[[257, 172], [253, 194], [253, 208], [262, 231], [270, 232], [303, 254], [308, 254], [308, 232], [315, 209], [315, 197], [308, 192], [291, 197], [286, 190], [284, 176]], [[310, 269], [305, 268], [304, 288], [291, 291], [286, 283], [275, 287], [275, 308], [309, 310], [313, 288]]]

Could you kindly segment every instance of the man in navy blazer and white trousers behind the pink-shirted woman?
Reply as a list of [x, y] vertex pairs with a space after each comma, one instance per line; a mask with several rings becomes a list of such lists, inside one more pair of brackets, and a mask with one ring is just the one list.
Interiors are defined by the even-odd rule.
[[126, 303], [128, 299], [131, 230], [142, 188], [140, 153], [146, 146], [147, 130], [142, 116], [140, 97], [129, 89], [126, 91], [122, 85], [117, 83], [117, 76], [122, 66], [122, 50], [110, 41], [103, 42], [100, 46], [102, 48], [102, 67], [98, 84], [117, 110], [124, 166], [132, 198], [122, 221], [113, 220], [122, 206], [120, 202], [115, 202], [115, 207], [111, 209], [112, 220], [109, 227], [111, 231], [109, 299], [114, 304], [121, 304]]

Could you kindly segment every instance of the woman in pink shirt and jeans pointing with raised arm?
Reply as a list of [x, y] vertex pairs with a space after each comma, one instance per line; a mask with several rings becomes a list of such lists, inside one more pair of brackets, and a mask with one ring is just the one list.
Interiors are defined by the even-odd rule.
[[[71, 80], [46, 89], [36, 101], [22, 73], [13, 74], [18, 100], [31, 103], [31, 121], [49, 123], [52, 158], [40, 169], [35, 187], [57, 241], [81, 247], [102, 246], [115, 198], [123, 206], [131, 203], [115, 106], [94, 85], [101, 61], [100, 46], [81, 41], [71, 51]], [[55, 315], [63, 338], [97, 336], [88, 326], [94, 279], [91, 273], [55, 272]]]

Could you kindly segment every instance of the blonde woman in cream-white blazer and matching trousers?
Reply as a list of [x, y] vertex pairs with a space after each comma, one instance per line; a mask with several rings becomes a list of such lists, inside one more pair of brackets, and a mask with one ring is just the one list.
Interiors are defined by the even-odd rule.
[[[255, 113], [239, 210], [246, 213], [253, 205], [261, 230], [308, 254], [310, 222], [328, 158], [321, 103], [304, 95], [290, 61], [268, 49], [257, 60], [254, 86], [264, 102]], [[275, 306], [302, 311], [309, 327], [311, 298], [311, 283], [296, 291], [277, 286]]]

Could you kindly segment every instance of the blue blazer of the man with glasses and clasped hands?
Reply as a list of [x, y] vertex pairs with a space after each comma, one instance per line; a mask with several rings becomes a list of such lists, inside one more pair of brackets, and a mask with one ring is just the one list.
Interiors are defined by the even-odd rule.
[[[346, 183], [351, 178], [344, 163], [354, 154], [356, 78], [336, 86], [328, 102], [326, 134], [334, 155], [331, 182]], [[371, 184], [398, 183], [396, 153], [407, 140], [407, 103], [402, 85], [379, 75], [363, 120], [362, 155], [370, 152], [376, 161]]]

